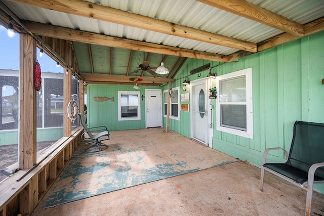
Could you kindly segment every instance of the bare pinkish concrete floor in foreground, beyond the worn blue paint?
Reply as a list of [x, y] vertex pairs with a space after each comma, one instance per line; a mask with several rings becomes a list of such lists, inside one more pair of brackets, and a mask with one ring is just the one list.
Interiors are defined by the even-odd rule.
[[[147, 133], [145, 129], [136, 131]], [[215, 156], [221, 154], [214, 152]], [[186, 153], [188, 158], [198, 154]], [[44, 209], [41, 203], [32, 215], [304, 215], [304, 189], [268, 172], [264, 192], [259, 185], [260, 168], [237, 161], [52, 208]], [[324, 215], [324, 195], [316, 192], [312, 215]]]

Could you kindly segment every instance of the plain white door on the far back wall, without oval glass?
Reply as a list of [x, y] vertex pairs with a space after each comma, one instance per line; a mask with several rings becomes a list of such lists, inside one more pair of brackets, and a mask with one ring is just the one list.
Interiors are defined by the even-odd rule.
[[146, 127], [162, 126], [161, 90], [145, 90]]

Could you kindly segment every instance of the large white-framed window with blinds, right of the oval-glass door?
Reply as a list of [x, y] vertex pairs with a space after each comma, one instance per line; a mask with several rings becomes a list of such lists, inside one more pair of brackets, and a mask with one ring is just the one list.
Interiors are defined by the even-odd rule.
[[216, 77], [217, 129], [253, 138], [252, 68]]

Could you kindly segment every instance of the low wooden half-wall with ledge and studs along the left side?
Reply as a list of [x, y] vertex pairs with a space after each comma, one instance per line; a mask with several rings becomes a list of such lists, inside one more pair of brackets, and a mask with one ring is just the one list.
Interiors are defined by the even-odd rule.
[[82, 133], [76, 127], [42, 152], [32, 169], [19, 170], [0, 184], [0, 216], [32, 213], [80, 146]]

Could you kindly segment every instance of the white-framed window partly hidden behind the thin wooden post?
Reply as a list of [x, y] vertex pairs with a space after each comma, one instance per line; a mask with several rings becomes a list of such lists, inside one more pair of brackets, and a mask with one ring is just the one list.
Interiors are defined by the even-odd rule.
[[[168, 110], [168, 90], [163, 92], [164, 94], [164, 117], [167, 117], [167, 110]], [[179, 120], [179, 87], [172, 88], [172, 95], [170, 101], [170, 118]]]

